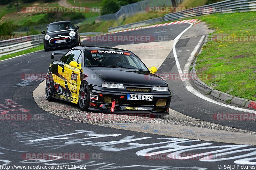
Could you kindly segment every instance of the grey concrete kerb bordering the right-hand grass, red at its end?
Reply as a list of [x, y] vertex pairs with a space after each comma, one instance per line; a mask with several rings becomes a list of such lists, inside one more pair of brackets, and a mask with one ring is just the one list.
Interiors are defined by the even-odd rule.
[[[206, 42], [207, 42], [207, 37], [205, 38], [204, 44]], [[201, 50], [200, 50], [199, 53], [201, 53]], [[197, 77], [196, 76], [196, 69], [195, 69], [196, 61], [197, 61], [197, 57], [196, 57], [196, 59], [193, 63], [193, 68], [190, 71], [190, 74], [194, 75], [194, 77]], [[252, 101], [252, 100], [249, 101], [247, 99], [232, 96], [232, 95], [229, 95], [227, 93], [216, 90], [216, 89], [208, 86], [207, 84], [205, 84], [199, 78], [193, 79], [192, 81], [193, 81], [194, 85], [197, 88], [203, 90], [205, 92], [205, 94], [207, 94], [207, 95], [210, 94], [211, 96], [215, 97], [216, 99], [220, 99], [222, 101], [225, 101], [226, 103], [233, 103], [233, 104], [236, 104], [236, 105], [239, 105], [239, 106], [242, 106], [242, 107], [256, 109], [256, 102], [255, 101]]]

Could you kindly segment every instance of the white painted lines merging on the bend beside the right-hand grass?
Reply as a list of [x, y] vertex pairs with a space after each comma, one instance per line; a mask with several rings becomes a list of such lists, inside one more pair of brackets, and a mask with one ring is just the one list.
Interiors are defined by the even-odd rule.
[[186, 89], [196, 95], [197, 97], [200, 97], [201, 99], [204, 99], [208, 102], [211, 102], [211, 103], [214, 103], [214, 104], [218, 104], [220, 106], [223, 106], [223, 107], [227, 107], [229, 109], [234, 109], [234, 110], [238, 110], [238, 111], [242, 111], [242, 112], [247, 112], [247, 113], [254, 113], [256, 114], [256, 110], [249, 110], [249, 109], [243, 109], [243, 108], [239, 108], [239, 107], [236, 107], [236, 106], [230, 106], [230, 105], [227, 105], [227, 104], [224, 104], [224, 103], [220, 103], [218, 101], [215, 101], [215, 100], [212, 100], [206, 96], [204, 96], [203, 94], [201, 94], [200, 92], [198, 92], [196, 89], [194, 89], [190, 82], [188, 80], [186, 80], [184, 78], [184, 74], [188, 74], [188, 71], [189, 71], [189, 67], [193, 61], [193, 57], [195, 56], [197, 50], [200, 48], [200, 45], [202, 43], [202, 41], [204, 40], [204, 37], [205, 36], [202, 36], [201, 39], [199, 40], [198, 44], [196, 45], [196, 47], [194, 48], [194, 50], [192, 51], [192, 53], [190, 54], [189, 58], [188, 58], [188, 61], [187, 61], [187, 64], [185, 65], [184, 69], [183, 69], [183, 73], [182, 73], [182, 70], [180, 68], [180, 62], [178, 60], [178, 56], [177, 56], [177, 53], [176, 53], [176, 44], [177, 42], [179, 41], [180, 37], [186, 32], [188, 31], [189, 28], [192, 27], [193, 23], [188, 23], [190, 24], [190, 26], [188, 28], [186, 28], [183, 32], [180, 33], [180, 35], [178, 35], [175, 39], [174, 39], [174, 43], [172, 45], [172, 51], [173, 51], [173, 55], [174, 55], [174, 58], [175, 58], [175, 62], [176, 62], [176, 65], [177, 65], [177, 68], [178, 68], [178, 72], [179, 74], [181, 75], [181, 80], [184, 81], [184, 85], [186, 87]]

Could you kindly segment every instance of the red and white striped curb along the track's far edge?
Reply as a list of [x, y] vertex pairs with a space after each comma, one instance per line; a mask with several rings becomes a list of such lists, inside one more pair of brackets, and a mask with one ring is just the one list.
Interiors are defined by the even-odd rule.
[[[119, 32], [127, 32], [127, 31], [134, 31], [134, 30], [140, 30], [140, 29], [145, 29], [145, 28], [155, 28], [159, 26], [166, 26], [166, 25], [176, 25], [176, 24], [186, 24], [186, 23], [193, 23], [196, 24], [200, 21], [197, 19], [187, 19], [187, 20], [182, 20], [182, 21], [174, 21], [174, 22], [169, 22], [169, 23], [164, 23], [164, 24], [155, 24], [155, 25], [148, 25], [148, 26], [142, 26], [142, 27], [137, 27], [137, 28], [130, 28], [126, 30], [121, 30], [121, 31], [115, 31], [115, 32], [108, 32], [102, 35], [107, 35], [107, 34], [115, 34]], [[99, 35], [100, 36], [100, 35]], [[83, 42], [84, 40], [90, 39], [89, 36], [80, 36], [82, 39], [81, 41]]]

